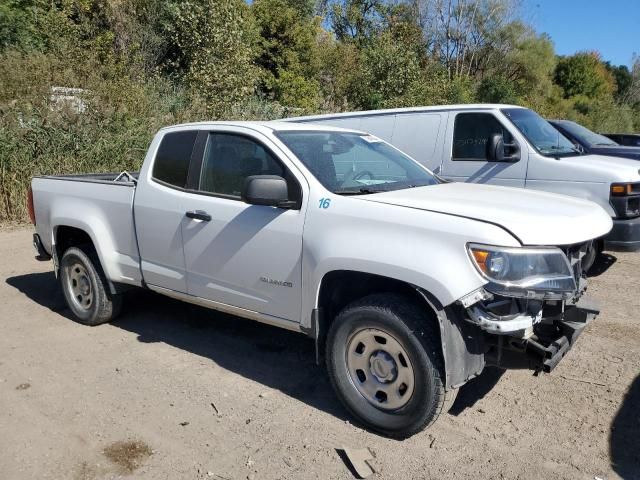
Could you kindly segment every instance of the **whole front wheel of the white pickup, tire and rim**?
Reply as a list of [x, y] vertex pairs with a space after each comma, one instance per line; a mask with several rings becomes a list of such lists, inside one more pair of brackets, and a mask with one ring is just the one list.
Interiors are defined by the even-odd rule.
[[406, 297], [376, 294], [348, 305], [331, 325], [331, 383], [372, 430], [405, 438], [445, 407], [440, 335], [429, 313]]

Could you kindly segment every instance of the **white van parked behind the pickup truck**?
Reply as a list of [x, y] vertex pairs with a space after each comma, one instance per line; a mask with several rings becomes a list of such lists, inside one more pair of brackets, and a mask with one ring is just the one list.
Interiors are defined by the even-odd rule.
[[367, 131], [451, 181], [544, 190], [599, 204], [613, 229], [595, 243], [585, 269], [603, 249], [640, 249], [640, 164], [583, 154], [527, 108], [447, 105], [290, 120]]

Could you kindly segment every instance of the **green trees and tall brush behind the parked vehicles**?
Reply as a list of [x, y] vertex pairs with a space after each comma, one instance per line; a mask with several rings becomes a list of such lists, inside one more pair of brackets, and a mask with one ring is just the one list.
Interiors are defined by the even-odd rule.
[[25, 219], [31, 176], [136, 170], [185, 121], [482, 101], [640, 130], [640, 59], [558, 58], [512, 3], [0, 2], [0, 220]]

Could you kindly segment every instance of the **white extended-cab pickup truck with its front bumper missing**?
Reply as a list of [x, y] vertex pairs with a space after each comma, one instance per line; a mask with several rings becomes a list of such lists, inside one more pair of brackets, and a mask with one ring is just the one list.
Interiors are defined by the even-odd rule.
[[305, 333], [393, 437], [486, 365], [551, 371], [598, 313], [580, 263], [612, 226], [586, 200], [448, 183], [369, 134], [277, 122], [164, 128], [139, 175], [35, 177], [28, 200], [80, 322], [135, 286]]

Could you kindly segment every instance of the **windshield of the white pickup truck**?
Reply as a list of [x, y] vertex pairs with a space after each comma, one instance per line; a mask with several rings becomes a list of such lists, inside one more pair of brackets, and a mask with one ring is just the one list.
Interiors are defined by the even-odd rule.
[[357, 195], [440, 183], [418, 162], [372, 135], [308, 130], [276, 135], [334, 193]]

